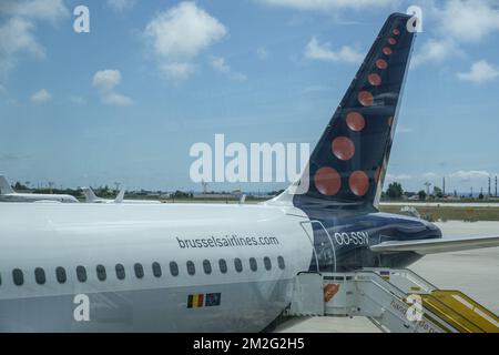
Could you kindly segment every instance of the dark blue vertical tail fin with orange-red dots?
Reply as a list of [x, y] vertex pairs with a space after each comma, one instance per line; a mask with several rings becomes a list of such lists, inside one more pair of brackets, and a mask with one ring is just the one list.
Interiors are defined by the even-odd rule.
[[308, 190], [294, 195], [296, 206], [377, 204], [415, 39], [409, 19], [403, 13], [387, 19], [310, 155], [299, 182]]

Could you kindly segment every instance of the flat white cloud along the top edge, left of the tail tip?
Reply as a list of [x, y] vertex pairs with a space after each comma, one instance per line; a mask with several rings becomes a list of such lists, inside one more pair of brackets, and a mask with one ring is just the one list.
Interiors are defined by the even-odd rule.
[[261, 0], [265, 3], [286, 7], [297, 10], [336, 10], [336, 9], [363, 9], [380, 8], [395, 4], [398, 0]]

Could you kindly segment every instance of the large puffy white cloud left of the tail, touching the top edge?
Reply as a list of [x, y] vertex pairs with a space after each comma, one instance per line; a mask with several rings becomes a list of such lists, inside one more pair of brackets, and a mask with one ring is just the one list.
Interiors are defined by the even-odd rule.
[[192, 61], [227, 33], [226, 28], [194, 2], [157, 14], [145, 27], [160, 69], [174, 78], [193, 73]]

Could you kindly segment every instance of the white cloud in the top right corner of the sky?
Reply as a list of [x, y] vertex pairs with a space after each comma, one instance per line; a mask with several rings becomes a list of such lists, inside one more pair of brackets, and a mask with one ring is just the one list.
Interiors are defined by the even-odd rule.
[[461, 42], [478, 42], [499, 30], [499, 8], [490, 0], [447, 1], [440, 11], [442, 33]]

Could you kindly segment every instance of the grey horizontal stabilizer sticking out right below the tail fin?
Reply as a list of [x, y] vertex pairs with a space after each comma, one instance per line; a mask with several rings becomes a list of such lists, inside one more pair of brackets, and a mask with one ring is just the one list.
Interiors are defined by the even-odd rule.
[[420, 255], [499, 246], [499, 236], [446, 237], [424, 241], [393, 241], [370, 246], [377, 253], [415, 252]]

